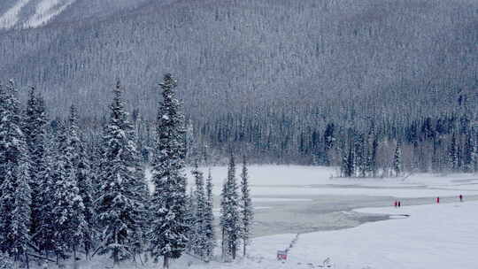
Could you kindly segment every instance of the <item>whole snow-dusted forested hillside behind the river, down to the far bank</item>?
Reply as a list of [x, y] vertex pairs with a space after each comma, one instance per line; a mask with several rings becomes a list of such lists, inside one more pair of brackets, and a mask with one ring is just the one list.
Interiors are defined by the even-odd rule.
[[[468, 137], [476, 140], [474, 1], [95, 3], [77, 1], [44, 27], [0, 34], [0, 78], [38, 88], [50, 118], [78, 105], [91, 133], [120, 79], [147, 152], [154, 88], [171, 72], [190, 147], [209, 155], [232, 147], [253, 162], [341, 164], [356, 158], [373, 126], [382, 161], [400, 141], [405, 156], [421, 154], [405, 166], [427, 160], [428, 170], [434, 137], [443, 163], [453, 134], [459, 156]], [[422, 139], [423, 126], [434, 135]]]

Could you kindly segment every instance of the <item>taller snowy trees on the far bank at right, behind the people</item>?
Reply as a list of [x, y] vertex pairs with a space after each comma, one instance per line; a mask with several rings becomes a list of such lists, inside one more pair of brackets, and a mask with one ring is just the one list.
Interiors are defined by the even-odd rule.
[[[338, 135], [335, 156], [341, 176], [400, 176], [405, 172], [476, 173], [478, 171], [478, 125], [474, 114], [462, 107], [459, 113], [438, 119], [412, 121], [403, 128], [367, 133], [349, 128]], [[328, 155], [325, 156], [326, 158]]]

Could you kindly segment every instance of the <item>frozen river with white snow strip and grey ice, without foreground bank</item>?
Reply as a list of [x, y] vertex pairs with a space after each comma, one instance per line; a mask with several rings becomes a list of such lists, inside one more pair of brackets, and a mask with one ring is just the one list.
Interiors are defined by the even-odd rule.
[[[202, 170], [207, 175], [207, 168]], [[432, 204], [440, 196], [447, 203], [456, 202], [460, 194], [478, 200], [478, 176], [473, 174], [341, 179], [334, 177], [334, 168], [299, 165], [251, 165], [249, 173], [256, 207], [255, 237], [335, 230], [389, 219], [389, 215], [352, 210], [390, 206], [396, 200], [403, 205]], [[227, 167], [212, 167], [216, 207], [226, 175]], [[189, 186], [193, 182], [189, 174]]]

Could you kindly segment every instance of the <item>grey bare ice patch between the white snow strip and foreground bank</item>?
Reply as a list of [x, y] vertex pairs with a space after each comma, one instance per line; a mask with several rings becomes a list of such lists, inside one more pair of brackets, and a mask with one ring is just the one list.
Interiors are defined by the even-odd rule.
[[[346, 188], [346, 187], [345, 187]], [[335, 230], [389, 219], [377, 215], [351, 211], [363, 207], [390, 206], [397, 198], [392, 196], [255, 196], [254, 236], [270, 234], [297, 234]], [[297, 199], [297, 200], [296, 200]], [[308, 199], [308, 200], [307, 200]], [[401, 204], [432, 204], [435, 198], [400, 198]], [[478, 200], [478, 196], [466, 196]], [[457, 202], [455, 196], [441, 197], [441, 203]]]

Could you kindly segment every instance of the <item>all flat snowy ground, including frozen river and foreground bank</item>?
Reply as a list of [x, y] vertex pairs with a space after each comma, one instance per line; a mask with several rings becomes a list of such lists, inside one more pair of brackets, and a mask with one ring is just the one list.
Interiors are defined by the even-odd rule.
[[[478, 264], [478, 175], [336, 179], [333, 169], [294, 165], [253, 165], [249, 172], [258, 209], [249, 257], [209, 265], [182, 257], [173, 268], [321, 268], [328, 257], [336, 269], [471, 269]], [[226, 174], [226, 167], [212, 167], [216, 195]], [[189, 174], [189, 186], [192, 182]], [[465, 203], [457, 202], [459, 194]], [[435, 204], [436, 196], [441, 204]], [[405, 206], [390, 207], [395, 200]], [[216, 197], [216, 207], [218, 201]], [[297, 233], [289, 260], [277, 261], [276, 251], [289, 246]], [[105, 265], [111, 261], [100, 257], [66, 268]]]

